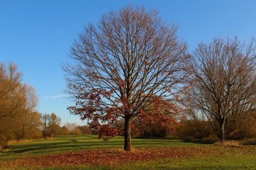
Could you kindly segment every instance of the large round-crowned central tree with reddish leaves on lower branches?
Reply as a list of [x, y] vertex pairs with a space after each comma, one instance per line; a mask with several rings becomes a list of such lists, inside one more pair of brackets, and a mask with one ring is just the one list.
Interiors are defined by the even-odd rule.
[[76, 102], [70, 112], [108, 136], [118, 134], [108, 125], [123, 117], [124, 150], [130, 151], [132, 120], [152, 102], [172, 99], [187, 77], [187, 45], [177, 29], [157, 11], [132, 6], [84, 27], [71, 48], [74, 64], [62, 66]]

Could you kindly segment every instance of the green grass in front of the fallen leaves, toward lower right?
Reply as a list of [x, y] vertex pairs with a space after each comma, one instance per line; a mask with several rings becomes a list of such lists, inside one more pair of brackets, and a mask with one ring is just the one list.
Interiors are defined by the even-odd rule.
[[44, 168], [49, 169], [256, 169], [256, 158], [252, 155], [220, 155], [219, 157], [193, 157], [190, 159], [158, 159], [147, 162], [134, 162], [131, 164], [118, 164], [114, 166], [84, 165], [73, 167]]

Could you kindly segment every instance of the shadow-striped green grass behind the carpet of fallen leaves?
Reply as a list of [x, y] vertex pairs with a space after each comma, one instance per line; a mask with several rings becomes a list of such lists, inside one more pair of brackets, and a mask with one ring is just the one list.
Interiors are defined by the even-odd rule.
[[[164, 139], [132, 139], [132, 147], [171, 147], [200, 145], [186, 143], [182, 140]], [[114, 137], [104, 142], [96, 135], [59, 135], [54, 139], [33, 140], [10, 144], [8, 152], [0, 154], [1, 159], [16, 159], [24, 156], [47, 155], [65, 151], [97, 149], [97, 148], [123, 148], [123, 137]]]

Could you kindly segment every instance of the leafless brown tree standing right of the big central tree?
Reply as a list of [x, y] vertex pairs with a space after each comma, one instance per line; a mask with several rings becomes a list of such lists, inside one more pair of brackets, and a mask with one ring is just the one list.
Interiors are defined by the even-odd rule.
[[214, 39], [208, 45], [200, 43], [194, 53], [193, 86], [186, 104], [210, 120], [222, 142], [227, 123], [236, 119], [244, 124], [247, 113], [255, 108], [254, 42]]

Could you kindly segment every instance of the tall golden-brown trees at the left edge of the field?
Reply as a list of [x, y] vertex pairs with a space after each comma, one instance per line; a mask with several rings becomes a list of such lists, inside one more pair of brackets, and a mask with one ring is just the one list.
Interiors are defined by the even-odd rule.
[[37, 97], [32, 86], [22, 83], [17, 66], [0, 63], [0, 146], [10, 139], [36, 135], [39, 114], [35, 112]]

